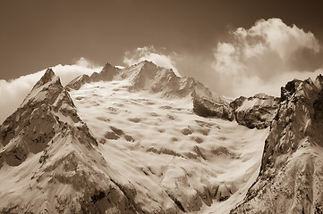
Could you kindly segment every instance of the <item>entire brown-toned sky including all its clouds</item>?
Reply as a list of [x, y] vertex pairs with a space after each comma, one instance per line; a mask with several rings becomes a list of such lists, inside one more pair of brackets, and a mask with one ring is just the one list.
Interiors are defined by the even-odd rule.
[[149, 60], [218, 95], [280, 95], [323, 68], [321, 1], [0, 0], [0, 122], [53, 67], [63, 82]]

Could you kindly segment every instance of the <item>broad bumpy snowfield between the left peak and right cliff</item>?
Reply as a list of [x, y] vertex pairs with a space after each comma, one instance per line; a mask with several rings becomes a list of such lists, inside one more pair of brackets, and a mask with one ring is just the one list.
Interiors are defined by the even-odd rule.
[[[171, 195], [184, 210], [200, 213], [228, 213], [241, 202], [259, 173], [268, 128], [205, 119], [192, 112], [189, 97], [166, 99], [148, 91], [130, 92], [129, 86], [129, 79], [101, 81], [70, 93], [100, 142], [98, 152], [123, 175], [115, 180], [135, 185], [135, 202], [151, 212], [154, 202], [164, 209], [174, 206]], [[197, 199], [217, 188], [217, 197]], [[230, 198], [218, 202], [225, 191]]]

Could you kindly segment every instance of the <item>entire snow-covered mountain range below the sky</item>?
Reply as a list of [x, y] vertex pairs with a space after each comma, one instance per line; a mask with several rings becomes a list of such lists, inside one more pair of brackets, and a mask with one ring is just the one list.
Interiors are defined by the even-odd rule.
[[321, 209], [321, 89], [227, 103], [147, 61], [65, 87], [49, 69], [0, 127], [0, 212], [272, 213], [285, 187]]

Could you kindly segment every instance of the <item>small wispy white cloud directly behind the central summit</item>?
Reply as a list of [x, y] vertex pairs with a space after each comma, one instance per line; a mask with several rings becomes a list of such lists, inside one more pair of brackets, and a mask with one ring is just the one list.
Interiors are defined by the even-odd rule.
[[178, 70], [175, 68], [175, 61], [178, 55], [176, 53], [166, 54], [162, 50], [157, 51], [154, 46], [138, 47], [132, 52], [126, 52], [123, 58], [123, 62], [127, 65], [132, 65], [144, 60], [154, 62], [157, 66], [164, 67], [166, 69], [172, 69], [177, 76], [181, 76]]

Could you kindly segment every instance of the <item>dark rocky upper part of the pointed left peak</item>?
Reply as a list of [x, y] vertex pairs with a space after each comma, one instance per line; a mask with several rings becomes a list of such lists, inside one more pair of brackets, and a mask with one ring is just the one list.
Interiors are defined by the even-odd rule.
[[[82, 135], [90, 136], [85, 123], [77, 115], [72, 99], [53, 70], [46, 73], [30, 91], [17, 111], [4, 120], [0, 128], [0, 168], [4, 161], [18, 166], [29, 153], [42, 152], [57, 134], [75, 133], [79, 123]], [[96, 144], [88, 137], [89, 143]]]

